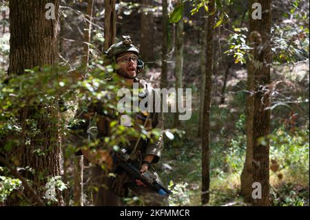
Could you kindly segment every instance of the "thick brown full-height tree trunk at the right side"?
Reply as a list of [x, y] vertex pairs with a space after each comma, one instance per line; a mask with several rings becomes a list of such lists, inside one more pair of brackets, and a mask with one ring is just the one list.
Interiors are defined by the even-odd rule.
[[[254, 121], [253, 121], [253, 181], [260, 183], [261, 199], [252, 197], [254, 206], [269, 206], [269, 139], [270, 130], [270, 66], [271, 66], [271, 0], [253, 0], [262, 6], [262, 19], [254, 20], [249, 12], [250, 41], [254, 47]], [[265, 141], [262, 141], [265, 139]]]

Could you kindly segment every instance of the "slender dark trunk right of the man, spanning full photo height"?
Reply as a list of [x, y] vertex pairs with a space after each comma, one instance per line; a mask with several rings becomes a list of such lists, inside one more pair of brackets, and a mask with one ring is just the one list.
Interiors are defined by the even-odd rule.
[[[214, 1], [209, 1], [209, 12], [215, 10]], [[212, 72], [213, 72], [213, 52], [214, 52], [214, 21], [215, 15], [209, 15], [207, 24], [207, 54], [206, 54], [206, 72], [205, 72], [205, 99], [203, 103], [203, 141], [202, 141], [202, 204], [209, 203], [210, 186], [210, 167], [209, 167], [209, 137], [210, 137], [210, 106], [212, 90]]]

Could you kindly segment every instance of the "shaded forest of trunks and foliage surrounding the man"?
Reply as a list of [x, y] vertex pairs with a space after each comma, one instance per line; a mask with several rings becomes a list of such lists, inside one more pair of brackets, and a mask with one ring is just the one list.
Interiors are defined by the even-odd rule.
[[156, 169], [170, 206], [309, 206], [309, 1], [31, 1], [0, 1], [0, 206], [93, 205], [70, 126], [84, 95], [117, 89], [103, 55], [123, 35], [145, 61], [138, 78], [192, 88], [191, 119], [165, 113]]

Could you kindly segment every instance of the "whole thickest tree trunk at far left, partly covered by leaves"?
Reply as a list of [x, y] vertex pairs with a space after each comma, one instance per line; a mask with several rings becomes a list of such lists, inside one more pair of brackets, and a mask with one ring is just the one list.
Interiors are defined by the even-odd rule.
[[[54, 3], [55, 19], [45, 18], [45, 5]], [[35, 66], [54, 66], [58, 58], [58, 23], [59, 0], [28, 0], [10, 1], [10, 74], [24, 74], [25, 69]], [[35, 110], [32, 106], [26, 106], [21, 110], [22, 137], [19, 152], [14, 155], [19, 158], [21, 167], [34, 168], [36, 174], [25, 173], [25, 177], [33, 181], [32, 188], [40, 197], [45, 195], [46, 177], [60, 176], [61, 174], [61, 147], [59, 139], [59, 117], [57, 103], [56, 108], [44, 108], [38, 106]], [[53, 106], [54, 107], [54, 106]], [[42, 110], [44, 113], [38, 114]], [[34, 114], [36, 116], [34, 117]], [[37, 121], [37, 129], [41, 130], [32, 138], [30, 145], [26, 145], [26, 137], [30, 128], [25, 123], [26, 119]], [[34, 150], [40, 149], [44, 155], [34, 154]], [[43, 178], [42, 178], [43, 177]], [[25, 195], [33, 201], [30, 192], [25, 190]], [[61, 194], [57, 193], [58, 202], [63, 204]]]

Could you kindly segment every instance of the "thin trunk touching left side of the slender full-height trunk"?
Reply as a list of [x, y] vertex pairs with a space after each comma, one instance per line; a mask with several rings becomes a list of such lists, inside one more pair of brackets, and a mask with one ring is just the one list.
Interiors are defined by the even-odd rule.
[[200, 84], [200, 103], [199, 103], [199, 126], [198, 126], [198, 137], [201, 137], [203, 130], [203, 102], [205, 99], [205, 53], [207, 47], [207, 19], [203, 18], [203, 30], [200, 32], [200, 71], [201, 71], [201, 84]]

